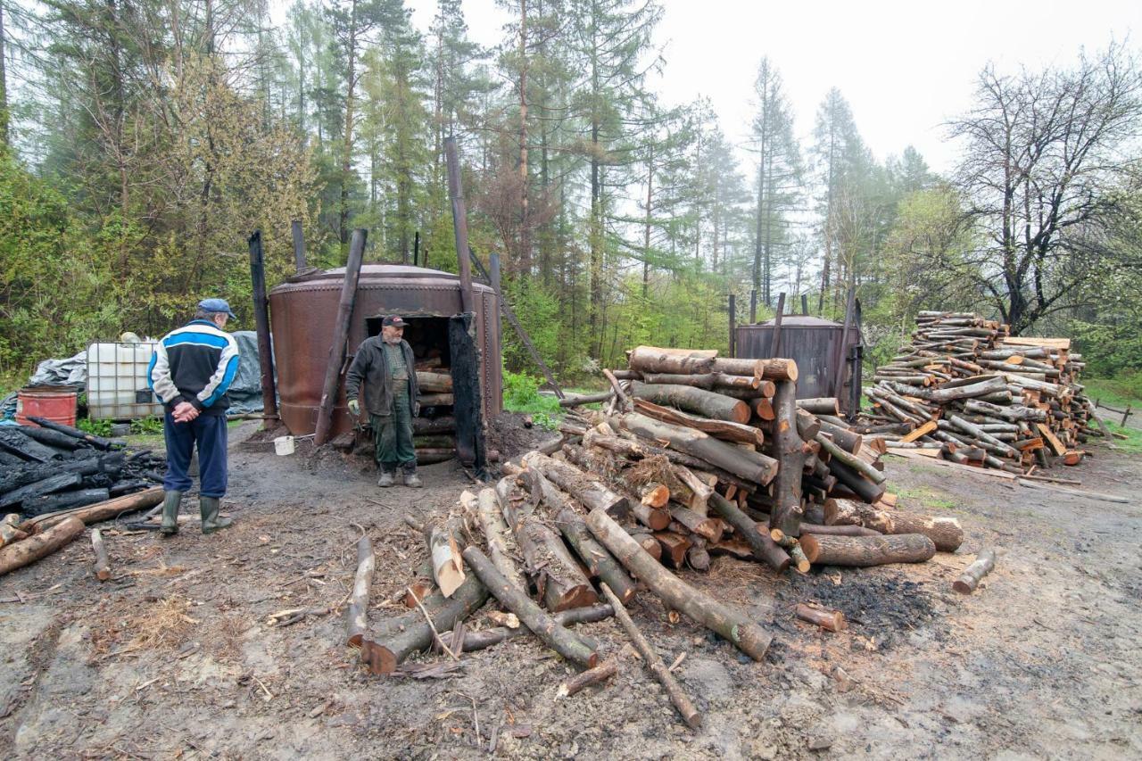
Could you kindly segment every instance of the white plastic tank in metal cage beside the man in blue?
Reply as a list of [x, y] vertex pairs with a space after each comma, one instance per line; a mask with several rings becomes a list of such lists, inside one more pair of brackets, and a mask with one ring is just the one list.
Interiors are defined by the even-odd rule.
[[[147, 385], [155, 342], [97, 343], [87, 347], [87, 409], [93, 420], [134, 420], [162, 415]], [[139, 401], [143, 400], [143, 401]]]

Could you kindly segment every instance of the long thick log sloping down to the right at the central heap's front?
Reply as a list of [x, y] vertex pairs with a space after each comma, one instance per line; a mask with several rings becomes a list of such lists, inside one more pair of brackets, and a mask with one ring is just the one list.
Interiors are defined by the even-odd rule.
[[653, 590], [666, 604], [717, 632], [754, 660], [765, 657], [773, 638], [761, 626], [751, 623], [740, 611], [694, 590], [666, 570], [605, 512], [593, 510], [587, 516], [587, 528], [619, 562], [626, 566], [627, 570]]

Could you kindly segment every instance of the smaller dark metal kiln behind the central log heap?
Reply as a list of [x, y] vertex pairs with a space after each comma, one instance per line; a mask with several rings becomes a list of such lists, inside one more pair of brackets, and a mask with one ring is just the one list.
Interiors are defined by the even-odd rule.
[[[843, 333], [844, 326], [831, 320], [806, 314], [782, 317], [779, 350], [781, 357], [797, 362], [797, 399], [836, 396], [843, 411], [855, 411], [860, 401], [860, 355], [863, 342], [860, 327], [854, 325], [849, 328], [849, 337], [842, 346]], [[738, 326], [734, 343], [737, 357], [772, 357], [773, 320]], [[842, 363], [845, 367], [838, 386], [837, 368]]]

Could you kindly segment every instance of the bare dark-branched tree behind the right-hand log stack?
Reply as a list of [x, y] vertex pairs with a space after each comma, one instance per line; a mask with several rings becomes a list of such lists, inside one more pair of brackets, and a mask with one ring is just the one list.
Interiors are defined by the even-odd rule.
[[1112, 45], [1073, 69], [1003, 75], [989, 65], [976, 102], [950, 123], [967, 141], [956, 184], [981, 241], [970, 271], [1019, 334], [1075, 306], [1077, 286], [1113, 256], [1099, 231], [1142, 133], [1142, 75]]

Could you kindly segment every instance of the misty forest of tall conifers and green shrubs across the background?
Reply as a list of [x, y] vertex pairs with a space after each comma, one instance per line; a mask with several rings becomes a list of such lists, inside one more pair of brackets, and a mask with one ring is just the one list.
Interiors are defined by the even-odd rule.
[[[449, 136], [473, 250], [501, 255], [569, 380], [642, 343], [724, 347], [729, 294], [739, 320], [751, 291], [758, 319], [780, 293], [836, 317], [850, 287], [872, 363], [918, 310], [972, 310], [1075, 337], [1091, 375], [1142, 373], [1135, 47], [982, 69], [936, 174], [909, 145], [874, 155], [843, 91], [794, 113], [764, 51], [748, 126], [665, 103], [662, 2], [500, 6], [486, 47], [460, 0], [427, 29], [402, 0], [0, 2], [0, 376], [161, 335], [209, 295], [250, 327], [247, 235], [272, 286], [292, 219], [319, 266], [368, 227], [367, 261], [411, 264], [419, 240], [455, 271]], [[505, 362], [530, 368], [509, 334]]]

